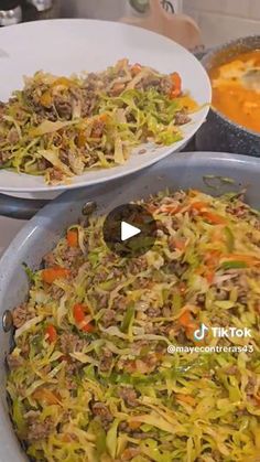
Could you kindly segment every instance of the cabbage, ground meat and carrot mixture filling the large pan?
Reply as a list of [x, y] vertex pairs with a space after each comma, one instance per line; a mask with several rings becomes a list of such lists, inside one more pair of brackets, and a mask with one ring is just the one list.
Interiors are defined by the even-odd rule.
[[[158, 222], [145, 255], [110, 253], [105, 217], [93, 214], [41, 270], [26, 268], [30, 294], [13, 311], [7, 357], [18, 437], [39, 461], [256, 462], [259, 213], [240, 194], [195, 190], [141, 204]], [[209, 331], [195, 342], [202, 323], [250, 335]]]

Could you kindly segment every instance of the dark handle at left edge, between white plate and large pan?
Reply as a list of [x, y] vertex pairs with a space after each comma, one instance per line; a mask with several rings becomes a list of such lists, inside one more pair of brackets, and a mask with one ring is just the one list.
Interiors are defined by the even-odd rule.
[[9, 218], [30, 219], [48, 202], [47, 200], [12, 197], [0, 193], [0, 215]]

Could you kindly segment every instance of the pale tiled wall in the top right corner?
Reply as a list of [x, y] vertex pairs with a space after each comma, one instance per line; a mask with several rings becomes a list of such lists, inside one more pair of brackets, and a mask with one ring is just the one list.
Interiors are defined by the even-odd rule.
[[260, 34], [260, 0], [183, 0], [183, 8], [197, 21], [206, 46]]

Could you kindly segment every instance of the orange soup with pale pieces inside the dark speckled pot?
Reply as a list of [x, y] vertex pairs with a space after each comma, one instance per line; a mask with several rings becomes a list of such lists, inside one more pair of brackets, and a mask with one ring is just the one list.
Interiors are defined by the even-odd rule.
[[213, 67], [213, 105], [230, 120], [260, 133], [260, 50]]

